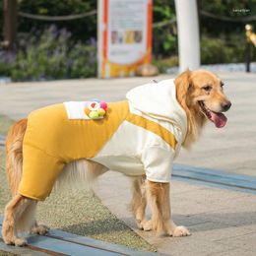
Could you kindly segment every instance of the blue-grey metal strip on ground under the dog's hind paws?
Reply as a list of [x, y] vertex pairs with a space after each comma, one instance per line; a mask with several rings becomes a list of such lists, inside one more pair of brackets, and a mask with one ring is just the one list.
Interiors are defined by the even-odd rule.
[[[0, 227], [3, 218], [0, 217]], [[2, 238], [0, 234], [0, 238]], [[72, 234], [69, 232], [50, 229], [47, 235], [31, 235], [28, 237], [28, 247], [21, 248], [20, 254], [27, 252], [35, 255], [88, 255], [88, 256], [156, 256], [153, 252], [142, 252], [130, 249], [123, 245], [99, 241], [93, 238]], [[17, 247], [7, 246], [0, 242], [0, 249], [13, 253], [19, 253]], [[7, 250], [8, 249], [8, 250]], [[30, 254], [29, 254], [30, 255]]]

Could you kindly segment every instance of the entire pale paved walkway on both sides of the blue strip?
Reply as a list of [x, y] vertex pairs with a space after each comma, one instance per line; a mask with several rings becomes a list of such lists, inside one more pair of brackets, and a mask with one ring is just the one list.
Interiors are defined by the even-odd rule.
[[[177, 162], [256, 176], [256, 75], [224, 73], [220, 76], [232, 101], [227, 113], [228, 123], [224, 129], [216, 129], [212, 123], [209, 124], [192, 152], [182, 151]], [[89, 79], [0, 86], [0, 113], [18, 119], [34, 108], [64, 100], [95, 97], [118, 100], [130, 88], [150, 80]], [[100, 178], [96, 191], [114, 214], [156, 245], [160, 252], [171, 255], [255, 255], [255, 195], [173, 181], [174, 221], [188, 225], [193, 235], [159, 238], [134, 226], [126, 210], [129, 186], [126, 177], [109, 172]]]

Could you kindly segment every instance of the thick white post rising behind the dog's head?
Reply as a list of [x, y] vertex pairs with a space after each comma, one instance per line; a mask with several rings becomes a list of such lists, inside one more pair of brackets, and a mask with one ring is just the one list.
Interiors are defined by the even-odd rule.
[[199, 22], [196, 0], [175, 0], [179, 71], [200, 67]]

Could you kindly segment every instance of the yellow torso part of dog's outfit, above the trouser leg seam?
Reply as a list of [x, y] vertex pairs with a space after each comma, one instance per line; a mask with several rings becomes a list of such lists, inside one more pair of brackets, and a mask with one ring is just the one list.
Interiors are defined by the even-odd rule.
[[46, 106], [29, 116], [24, 144], [64, 162], [91, 159], [111, 138], [128, 111], [128, 102], [120, 101], [108, 104], [103, 119], [71, 120], [64, 104]]

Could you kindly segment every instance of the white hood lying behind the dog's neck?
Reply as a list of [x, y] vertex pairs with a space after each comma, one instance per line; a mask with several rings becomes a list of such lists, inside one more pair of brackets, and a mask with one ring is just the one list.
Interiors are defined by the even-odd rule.
[[183, 142], [187, 133], [187, 116], [176, 99], [174, 79], [136, 87], [126, 97], [135, 109], [176, 125], [181, 130]]

